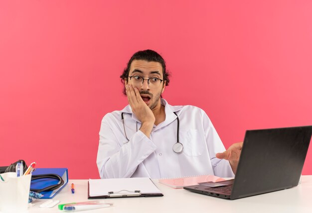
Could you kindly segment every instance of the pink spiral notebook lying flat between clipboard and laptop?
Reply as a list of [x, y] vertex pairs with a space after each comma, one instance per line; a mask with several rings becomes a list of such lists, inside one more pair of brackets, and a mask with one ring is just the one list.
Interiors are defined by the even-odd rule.
[[169, 186], [173, 189], [182, 189], [185, 186], [197, 185], [202, 182], [219, 182], [225, 181], [223, 178], [219, 178], [214, 175], [198, 175], [182, 178], [169, 178], [169, 179], [160, 179], [159, 183]]

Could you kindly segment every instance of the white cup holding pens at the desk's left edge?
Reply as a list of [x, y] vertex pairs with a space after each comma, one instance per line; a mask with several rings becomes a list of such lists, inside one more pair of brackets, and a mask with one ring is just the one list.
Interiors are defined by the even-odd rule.
[[28, 208], [31, 174], [16, 177], [15, 172], [1, 174], [0, 212], [22, 213]]

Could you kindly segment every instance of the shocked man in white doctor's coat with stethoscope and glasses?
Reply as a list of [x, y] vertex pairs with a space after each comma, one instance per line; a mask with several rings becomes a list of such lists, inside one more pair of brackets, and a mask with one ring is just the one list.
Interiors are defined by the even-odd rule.
[[101, 178], [234, 176], [242, 143], [225, 151], [202, 109], [170, 106], [161, 98], [169, 79], [158, 53], [135, 53], [121, 78], [129, 105], [103, 117]]

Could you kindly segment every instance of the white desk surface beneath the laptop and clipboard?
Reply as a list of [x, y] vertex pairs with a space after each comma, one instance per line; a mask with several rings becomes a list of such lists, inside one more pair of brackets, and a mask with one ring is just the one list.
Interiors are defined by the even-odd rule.
[[[87, 180], [70, 180], [53, 200], [60, 204], [91, 201], [87, 198]], [[102, 199], [114, 203], [113, 208], [85, 211], [81, 213], [310, 213], [312, 212], [312, 176], [303, 176], [302, 183], [292, 189], [257, 195], [238, 200], [224, 200], [192, 193], [183, 189], [171, 189], [154, 181], [163, 197]], [[75, 194], [70, 185], [75, 184]], [[36, 200], [29, 213], [52, 213], [61, 211], [39, 208], [47, 200]]]

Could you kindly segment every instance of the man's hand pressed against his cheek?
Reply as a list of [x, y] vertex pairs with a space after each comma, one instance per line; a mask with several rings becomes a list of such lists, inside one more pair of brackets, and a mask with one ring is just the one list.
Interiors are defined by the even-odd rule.
[[126, 85], [126, 93], [132, 112], [142, 123], [140, 130], [150, 137], [155, 122], [153, 111], [143, 101], [138, 88], [134, 88], [132, 85]]

